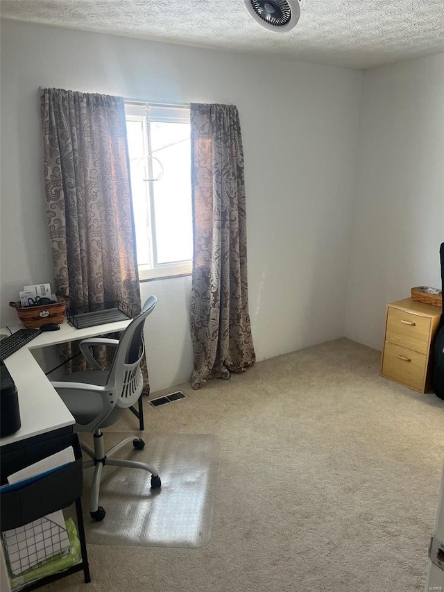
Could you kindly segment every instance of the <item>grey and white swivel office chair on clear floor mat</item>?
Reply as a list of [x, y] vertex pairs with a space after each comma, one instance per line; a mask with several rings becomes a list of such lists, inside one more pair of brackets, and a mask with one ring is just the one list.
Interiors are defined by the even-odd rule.
[[[106, 514], [103, 507], [99, 506], [100, 480], [105, 464], [142, 468], [151, 473], [153, 489], [161, 486], [160, 477], [153, 466], [112, 457], [129, 442], [133, 442], [137, 450], [142, 450], [145, 446], [142, 439], [128, 437], [105, 452], [101, 431], [101, 428], [115, 423], [124, 410], [134, 405], [142, 394], [144, 381], [140, 363], [145, 351], [144, 323], [156, 302], [155, 296], [148, 298], [139, 316], [128, 325], [119, 341], [96, 337], [80, 342], [80, 350], [94, 370], [74, 372], [65, 375], [62, 380], [52, 382], [76, 420], [74, 431], [94, 433], [94, 450], [84, 443], [81, 443], [81, 447], [91, 457], [83, 462], [83, 467], [95, 466], [89, 495], [89, 512], [96, 521], [103, 520]], [[110, 371], [104, 371], [89, 351], [89, 347], [99, 345], [117, 347]]]

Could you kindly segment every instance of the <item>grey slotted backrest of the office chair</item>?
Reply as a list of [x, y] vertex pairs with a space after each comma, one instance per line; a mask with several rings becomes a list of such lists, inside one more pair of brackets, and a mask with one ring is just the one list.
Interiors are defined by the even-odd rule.
[[140, 364], [145, 353], [144, 323], [148, 314], [153, 312], [157, 303], [155, 296], [150, 296], [142, 311], [128, 325], [119, 339], [116, 355], [112, 360], [108, 384], [114, 384], [117, 394], [117, 407], [134, 405], [144, 388], [144, 379]]

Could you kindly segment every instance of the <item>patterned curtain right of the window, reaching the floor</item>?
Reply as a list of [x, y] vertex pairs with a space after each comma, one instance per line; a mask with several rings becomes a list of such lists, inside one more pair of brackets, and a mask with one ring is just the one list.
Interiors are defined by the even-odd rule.
[[244, 152], [234, 105], [191, 104], [191, 387], [255, 363], [248, 314]]

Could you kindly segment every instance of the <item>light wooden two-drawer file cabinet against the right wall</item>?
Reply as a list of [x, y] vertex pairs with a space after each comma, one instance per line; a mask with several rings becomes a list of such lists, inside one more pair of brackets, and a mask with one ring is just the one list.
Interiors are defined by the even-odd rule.
[[411, 298], [387, 305], [381, 375], [427, 393], [441, 308]]

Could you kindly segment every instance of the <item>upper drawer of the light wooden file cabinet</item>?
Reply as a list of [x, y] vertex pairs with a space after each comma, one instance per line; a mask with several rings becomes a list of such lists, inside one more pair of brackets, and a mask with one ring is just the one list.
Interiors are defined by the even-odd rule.
[[430, 346], [430, 323], [429, 316], [420, 316], [389, 306], [386, 341], [427, 354]]

